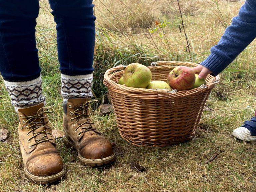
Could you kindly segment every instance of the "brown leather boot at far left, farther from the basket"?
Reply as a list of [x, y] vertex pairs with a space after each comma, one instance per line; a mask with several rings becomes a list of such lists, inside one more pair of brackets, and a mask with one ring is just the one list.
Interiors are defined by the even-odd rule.
[[35, 183], [52, 183], [66, 173], [47, 118], [50, 112], [53, 109], [44, 107], [43, 103], [18, 109], [17, 112], [25, 175]]

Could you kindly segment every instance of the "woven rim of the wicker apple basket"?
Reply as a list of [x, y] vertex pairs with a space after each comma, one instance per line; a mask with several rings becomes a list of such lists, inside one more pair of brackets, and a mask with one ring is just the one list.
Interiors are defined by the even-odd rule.
[[[196, 67], [199, 64], [192, 63], [192, 62], [181, 62], [181, 61], [157, 61], [156, 63], [152, 63], [152, 65], [149, 66], [148, 68], [149, 69], [170, 68], [170, 67], [176, 67], [181, 65], [187, 66], [187, 67]], [[169, 91], [168, 89], [144, 89], [144, 88], [126, 87], [111, 80], [113, 76], [117, 75], [118, 73], [122, 73], [125, 67], [126, 66], [119, 65], [119, 66], [108, 69], [104, 74], [104, 80], [103, 80], [104, 85], [106, 85], [111, 90], [114, 89], [115, 92], [126, 94], [131, 97], [138, 97], [138, 98], [144, 98], [144, 99], [193, 96], [195, 94], [198, 94], [199, 92], [204, 92], [209, 89], [212, 89], [220, 81], [219, 75], [217, 75], [216, 77], [212, 75], [208, 75], [206, 78], [206, 81], [208, 81], [208, 83], [206, 85], [200, 86], [199, 88], [194, 88], [194, 89], [184, 90], [184, 91], [177, 91], [177, 90]]]

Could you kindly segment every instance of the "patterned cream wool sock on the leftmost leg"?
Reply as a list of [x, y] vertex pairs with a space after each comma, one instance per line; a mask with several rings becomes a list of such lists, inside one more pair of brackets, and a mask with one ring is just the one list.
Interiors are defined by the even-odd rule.
[[45, 103], [45, 97], [42, 95], [41, 76], [31, 81], [4, 81], [4, 83], [16, 111], [23, 107]]

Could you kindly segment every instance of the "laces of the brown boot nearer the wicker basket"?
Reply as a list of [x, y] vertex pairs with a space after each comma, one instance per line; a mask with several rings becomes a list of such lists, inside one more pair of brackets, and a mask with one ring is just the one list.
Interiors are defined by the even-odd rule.
[[71, 107], [71, 105], [68, 106], [70, 109], [75, 109], [73, 112], [72, 111], [69, 112], [71, 116], [74, 115], [74, 117], [71, 118], [70, 121], [74, 121], [76, 119], [76, 121], [72, 124], [72, 127], [74, 127], [75, 124], [78, 123], [78, 121], [81, 119], [87, 120], [81, 124], [78, 124], [78, 126], [75, 128], [75, 132], [77, 132], [78, 128], [81, 127], [82, 125], [89, 125], [89, 127], [81, 127], [82, 131], [78, 133], [78, 136], [80, 136], [82, 133], [85, 133], [87, 131], [94, 131], [100, 134], [95, 127], [92, 127], [94, 123], [92, 122], [90, 115], [87, 113], [89, 110], [90, 103], [95, 101], [97, 100], [86, 101], [83, 103], [83, 105], [78, 107]]

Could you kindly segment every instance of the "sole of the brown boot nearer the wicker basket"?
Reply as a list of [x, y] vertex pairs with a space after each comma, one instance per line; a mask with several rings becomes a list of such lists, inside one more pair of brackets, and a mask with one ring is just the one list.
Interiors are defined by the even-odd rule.
[[70, 141], [68, 141], [65, 137], [63, 138], [63, 141], [65, 143], [65, 145], [69, 148], [73, 148], [77, 151], [77, 154], [78, 154], [78, 159], [84, 163], [85, 165], [87, 166], [90, 166], [90, 167], [96, 167], [96, 166], [104, 166], [104, 165], [108, 165], [112, 162], [115, 161], [116, 157], [115, 157], [115, 153], [113, 153], [111, 156], [109, 157], [105, 157], [105, 158], [102, 158], [102, 159], [86, 159], [84, 157], [82, 157], [80, 155], [80, 153], [78, 152], [78, 149], [77, 147], [71, 143]]

